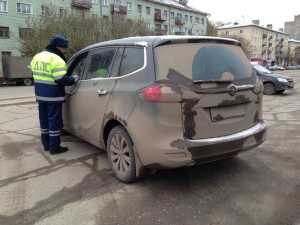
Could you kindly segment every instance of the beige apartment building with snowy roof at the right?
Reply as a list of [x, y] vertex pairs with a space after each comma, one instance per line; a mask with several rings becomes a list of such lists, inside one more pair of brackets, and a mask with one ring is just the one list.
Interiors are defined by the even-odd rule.
[[272, 24], [263, 27], [259, 25], [259, 20], [248, 22], [234, 22], [218, 28], [218, 34], [224, 36], [237, 35], [240, 41], [248, 40], [251, 46], [251, 61], [261, 61], [272, 59], [278, 64], [286, 65], [294, 61], [290, 59], [291, 52], [297, 52], [300, 45], [289, 44], [289, 34], [273, 30]]

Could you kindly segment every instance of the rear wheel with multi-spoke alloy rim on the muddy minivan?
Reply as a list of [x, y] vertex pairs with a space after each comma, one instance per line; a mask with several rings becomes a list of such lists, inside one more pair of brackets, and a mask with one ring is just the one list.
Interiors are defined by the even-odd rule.
[[121, 182], [137, 180], [133, 142], [122, 126], [114, 127], [107, 140], [107, 156], [114, 176]]

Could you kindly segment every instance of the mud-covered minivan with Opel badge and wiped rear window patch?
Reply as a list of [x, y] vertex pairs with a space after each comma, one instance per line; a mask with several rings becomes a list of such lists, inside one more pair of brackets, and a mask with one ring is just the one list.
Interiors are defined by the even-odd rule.
[[263, 87], [235, 40], [125, 38], [88, 46], [68, 66], [80, 81], [66, 87], [64, 129], [106, 150], [122, 182], [234, 156], [266, 138]]

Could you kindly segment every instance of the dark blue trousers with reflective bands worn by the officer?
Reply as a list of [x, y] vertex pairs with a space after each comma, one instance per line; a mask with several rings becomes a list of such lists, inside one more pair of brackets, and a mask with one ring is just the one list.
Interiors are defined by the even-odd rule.
[[38, 103], [41, 127], [41, 141], [44, 149], [57, 151], [63, 128], [62, 103]]

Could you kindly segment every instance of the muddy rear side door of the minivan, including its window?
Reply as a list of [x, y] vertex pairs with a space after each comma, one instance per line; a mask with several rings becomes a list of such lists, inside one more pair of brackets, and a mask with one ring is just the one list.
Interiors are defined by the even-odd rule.
[[76, 112], [77, 133], [99, 147], [103, 116], [110, 95], [116, 85], [112, 65], [118, 48], [98, 48], [90, 53], [83, 79], [72, 95]]

